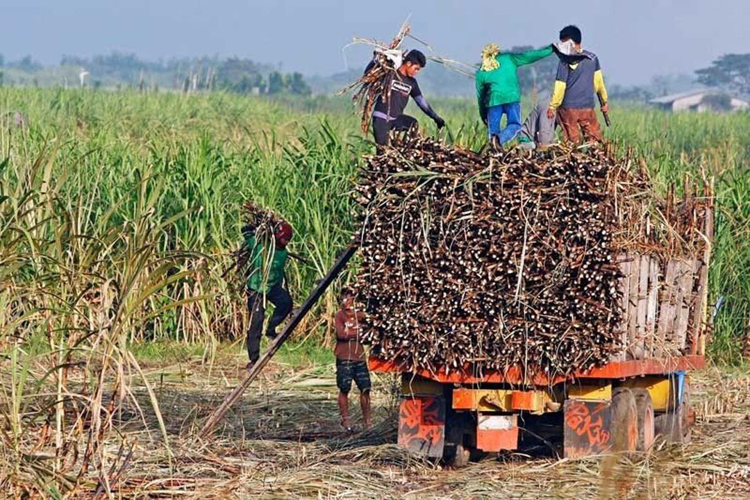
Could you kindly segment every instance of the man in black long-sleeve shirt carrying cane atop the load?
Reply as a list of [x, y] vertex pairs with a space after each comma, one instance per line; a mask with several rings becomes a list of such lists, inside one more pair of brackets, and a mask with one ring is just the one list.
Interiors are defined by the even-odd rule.
[[[368, 73], [374, 64], [374, 61], [368, 64], [368, 67], [365, 68], [365, 74]], [[430, 107], [414, 78], [419, 73], [419, 70], [425, 67], [425, 64], [427, 64], [425, 54], [419, 52], [419, 50], [410, 50], [407, 52], [392, 79], [391, 98], [389, 102], [386, 103], [384, 96], [381, 95], [377, 103], [375, 103], [373, 134], [375, 142], [378, 145], [388, 145], [391, 130], [409, 130], [411, 127], [419, 126], [416, 118], [404, 115], [404, 108], [407, 107], [409, 96], [413, 97], [417, 106], [425, 112], [425, 115], [428, 115], [435, 121], [439, 129], [443, 128], [446, 124], [446, 121], [440, 118]]]

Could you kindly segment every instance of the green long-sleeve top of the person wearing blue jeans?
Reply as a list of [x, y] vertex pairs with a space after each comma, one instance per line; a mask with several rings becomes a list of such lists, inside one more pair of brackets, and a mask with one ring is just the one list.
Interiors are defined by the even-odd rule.
[[500, 52], [495, 56], [499, 67], [491, 71], [477, 70], [476, 98], [479, 104], [479, 115], [484, 119], [487, 108], [499, 104], [517, 103], [520, 101], [517, 68], [531, 64], [552, 54], [552, 46], [526, 52]]

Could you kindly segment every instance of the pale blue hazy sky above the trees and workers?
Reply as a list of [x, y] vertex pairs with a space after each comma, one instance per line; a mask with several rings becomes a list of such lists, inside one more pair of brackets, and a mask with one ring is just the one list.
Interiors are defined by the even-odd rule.
[[[354, 35], [390, 39], [411, 14], [416, 36], [472, 62], [488, 41], [542, 45], [563, 25], [583, 30], [607, 79], [690, 73], [724, 52], [750, 52], [750, 0], [1, 0], [0, 52], [58, 64], [112, 50], [159, 59], [238, 55], [284, 70], [344, 69]], [[410, 42], [409, 46], [418, 46]], [[369, 50], [347, 52], [365, 64]]]

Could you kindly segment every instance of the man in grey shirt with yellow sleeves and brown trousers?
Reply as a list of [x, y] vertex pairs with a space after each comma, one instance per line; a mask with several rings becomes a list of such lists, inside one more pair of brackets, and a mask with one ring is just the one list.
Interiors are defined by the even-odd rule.
[[601, 112], [608, 112], [607, 88], [601, 74], [599, 59], [580, 46], [581, 33], [574, 25], [559, 33], [559, 51], [563, 55], [585, 55], [577, 61], [560, 58], [547, 118], [557, 117], [565, 139], [580, 142], [580, 129], [586, 141], [601, 141], [601, 128], [594, 110], [594, 92], [601, 99]]

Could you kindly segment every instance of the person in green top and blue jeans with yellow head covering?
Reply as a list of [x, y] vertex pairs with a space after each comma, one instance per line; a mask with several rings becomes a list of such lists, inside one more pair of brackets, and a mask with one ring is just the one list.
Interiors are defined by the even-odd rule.
[[[476, 97], [481, 120], [487, 124], [490, 144], [502, 148], [521, 130], [520, 88], [517, 68], [552, 54], [552, 46], [526, 52], [500, 52], [489, 43], [481, 51], [481, 67], [476, 72]], [[507, 117], [500, 128], [502, 115]]]

